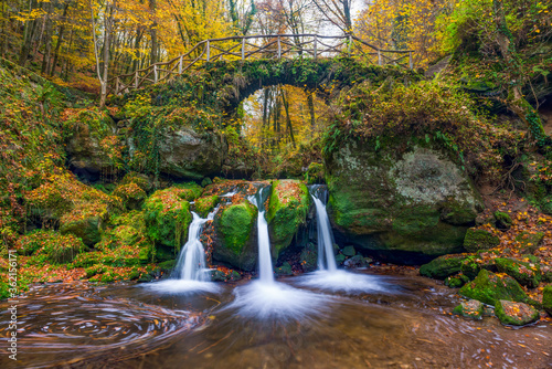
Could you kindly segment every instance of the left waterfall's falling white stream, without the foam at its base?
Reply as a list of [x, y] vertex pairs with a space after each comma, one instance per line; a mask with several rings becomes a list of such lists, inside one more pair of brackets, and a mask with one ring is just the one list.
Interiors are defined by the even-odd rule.
[[183, 281], [211, 281], [205, 263], [205, 250], [200, 241], [200, 236], [203, 224], [213, 220], [214, 214], [215, 211], [212, 211], [206, 219], [202, 219], [192, 212], [193, 220], [188, 229], [188, 242], [180, 251], [177, 266], [172, 272], [174, 277]]

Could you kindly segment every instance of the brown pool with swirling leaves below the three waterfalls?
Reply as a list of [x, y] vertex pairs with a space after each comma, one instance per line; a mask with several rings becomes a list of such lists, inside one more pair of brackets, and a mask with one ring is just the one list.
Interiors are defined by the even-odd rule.
[[[284, 315], [254, 314], [251, 295], [240, 301], [255, 293], [251, 281], [195, 294], [136, 284], [36, 286], [18, 305], [18, 361], [2, 355], [0, 367], [552, 368], [548, 321], [512, 329], [492, 317], [466, 320], [449, 315], [455, 291], [431, 280], [362, 277], [373, 288], [279, 280], [291, 304], [277, 301]], [[270, 304], [267, 296], [259, 306]], [[294, 316], [301, 298], [307, 305]], [[0, 303], [2, 336], [8, 307]]]

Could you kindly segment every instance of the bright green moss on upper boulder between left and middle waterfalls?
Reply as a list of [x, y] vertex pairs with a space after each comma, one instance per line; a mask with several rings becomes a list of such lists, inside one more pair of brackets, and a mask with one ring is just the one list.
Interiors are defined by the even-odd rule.
[[233, 204], [223, 210], [219, 231], [224, 239], [224, 247], [241, 255], [250, 242], [251, 231], [257, 220], [257, 208], [248, 201]]

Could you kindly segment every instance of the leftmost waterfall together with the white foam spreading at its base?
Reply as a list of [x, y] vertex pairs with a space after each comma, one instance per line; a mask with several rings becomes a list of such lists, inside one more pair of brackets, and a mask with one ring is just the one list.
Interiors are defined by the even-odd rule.
[[214, 219], [214, 209], [206, 219], [192, 212], [193, 220], [188, 229], [188, 241], [180, 251], [177, 266], [170, 280], [148, 283], [145, 286], [161, 292], [216, 292], [219, 286], [211, 282], [210, 270], [206, 267], [205, 250], [200, 241], [203, 224]]

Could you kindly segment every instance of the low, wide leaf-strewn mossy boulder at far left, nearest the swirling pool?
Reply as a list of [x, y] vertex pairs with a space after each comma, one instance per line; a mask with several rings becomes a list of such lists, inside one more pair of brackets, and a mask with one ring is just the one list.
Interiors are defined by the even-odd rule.
[[75, 235], [46, 230], [36, 230], [21, 236], [17, 247], [29, 255], [44, 256], [44, 261], [54, 264], [71, 263], [86, 250], [82, 240]]

